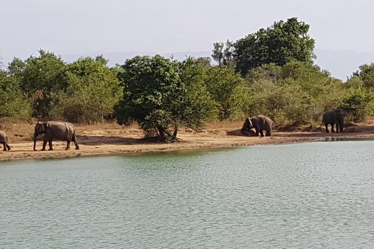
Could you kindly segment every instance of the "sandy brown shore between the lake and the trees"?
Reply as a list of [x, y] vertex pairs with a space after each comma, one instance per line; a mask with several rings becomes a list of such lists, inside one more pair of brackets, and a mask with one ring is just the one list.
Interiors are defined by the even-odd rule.
[[[266, 144], [296, 143], [318, 139], [334, 139], [335, 137], [374, 137], [374, 126], [348, 128], [348, 133], [334, 134], [323, 132], [274, 132], [272, 137], [245, 137], [238, 128], [241, 123], [217, 122], [208, 124], [205, 130], [192, 131], [180, 129], [177, 143], [150, 143], [143, 138], [138, 127], [123, 127], [114, 123], [98, 125], [76, 125], [80, 150], [64, 150], [66, 142], [54, 141], [53, 151], [40, 151], [42, 141], [38, 141], [38, 151], [33, 151], [31, 140], [33, 124], [9, 125], [1, 127], [9, 136], [12, 150], [0, 151], [0, 160], [57, 158], [66, 156], [105, 155], [148, 151], [167, 151], [180, 149], [233, 147]], [[2, 148], [1, 148], [2, 149]], [[48, 146], [47, 146], [48, 149]]]

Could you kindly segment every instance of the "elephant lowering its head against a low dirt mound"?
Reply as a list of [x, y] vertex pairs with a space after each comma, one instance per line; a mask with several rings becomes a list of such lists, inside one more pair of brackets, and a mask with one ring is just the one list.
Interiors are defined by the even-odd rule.
[[257, 115], [250, 118], [246, 118], [242, 127], [242, 134], [249, 136], [251, 129], [255, 128], [256, 136], [258, 133], [261, 134], [261, 137], [264, 136], [263, 131], [266, 131], [266, 136], [272, 136], [272, 128], [274, 127], [274, 122], [264, 115]]

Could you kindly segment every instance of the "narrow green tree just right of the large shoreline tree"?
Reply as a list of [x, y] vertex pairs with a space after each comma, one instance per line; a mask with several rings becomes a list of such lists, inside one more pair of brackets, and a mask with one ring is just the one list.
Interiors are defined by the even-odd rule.
[[213, 99], [220, 105], [218, 118], [222, 121], [230, 117], [233, 109], [237, 112], [241, 105], [238, 103], [242, 100], [238, 96], [240, 91], [236, 88], [242, 83], [242, 78], [233, 68], [226, 66], [214, 66], [209, 68], [207, 73], [206, 86]]

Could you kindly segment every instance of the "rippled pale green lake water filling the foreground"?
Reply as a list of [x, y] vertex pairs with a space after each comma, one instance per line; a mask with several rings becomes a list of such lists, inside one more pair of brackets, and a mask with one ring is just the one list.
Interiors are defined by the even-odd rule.
[[374, 141], [0, 162], [0, 248], [374, 248]]

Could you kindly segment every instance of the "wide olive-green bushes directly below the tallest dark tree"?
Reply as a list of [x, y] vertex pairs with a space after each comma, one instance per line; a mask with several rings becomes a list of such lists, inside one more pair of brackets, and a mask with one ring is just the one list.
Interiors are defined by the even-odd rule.
[[343, 84], [310, 63], [289, 62], [284, 66], [263, 65], [247, 75], [249, 116], [264, 114], [277, 125], [303, 124], [320, 120], [322, 113], [336, 107]]

